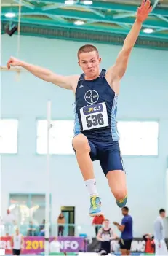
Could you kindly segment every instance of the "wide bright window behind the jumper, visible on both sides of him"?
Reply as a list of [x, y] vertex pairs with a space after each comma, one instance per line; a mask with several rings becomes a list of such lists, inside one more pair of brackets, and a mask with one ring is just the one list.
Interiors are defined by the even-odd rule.
[[[49, 152], [57, 155], [73, 155], [73, 120], [53, 120], [49, 136]], [[122, 155], [158, 155], [157, 122], [120, 121]], [[47, 153], [47, 120], [37, 124], [37, 153]]]

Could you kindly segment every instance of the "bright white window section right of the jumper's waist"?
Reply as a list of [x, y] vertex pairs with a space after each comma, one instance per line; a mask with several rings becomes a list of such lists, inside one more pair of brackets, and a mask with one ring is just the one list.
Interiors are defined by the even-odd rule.
[[158, 155], [157, 122], [119, 122], [122, 155]]

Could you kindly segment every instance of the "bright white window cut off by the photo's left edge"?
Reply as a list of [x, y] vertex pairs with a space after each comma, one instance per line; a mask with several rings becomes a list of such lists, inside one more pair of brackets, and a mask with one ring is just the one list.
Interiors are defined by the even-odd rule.
[[17, 129], [18, 120], [0, 120], [0, 153], [17, 153]]

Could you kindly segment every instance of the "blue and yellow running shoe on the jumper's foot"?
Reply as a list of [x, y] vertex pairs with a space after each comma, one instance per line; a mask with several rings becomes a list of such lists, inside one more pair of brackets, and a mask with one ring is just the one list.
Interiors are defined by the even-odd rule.
[[102, 215], [103, 213], [101, 212], [101, 201], [100, 197], [98, 196], [92, 196], [90, 198], [90, 209], [89, 209], [89, 215], [94, 217], [94, 216], [99, 216]]

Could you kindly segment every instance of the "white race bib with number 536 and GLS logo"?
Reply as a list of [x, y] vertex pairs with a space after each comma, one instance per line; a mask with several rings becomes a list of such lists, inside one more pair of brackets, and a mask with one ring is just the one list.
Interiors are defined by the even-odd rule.
[[83, 130], [108, 126], [108, 113], [105, 102], [84, 106], [80, 109]]

